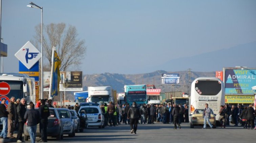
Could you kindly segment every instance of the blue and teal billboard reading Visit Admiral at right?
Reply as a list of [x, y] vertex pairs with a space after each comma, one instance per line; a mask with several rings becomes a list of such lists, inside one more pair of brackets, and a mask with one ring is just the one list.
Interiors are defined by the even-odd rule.
[[226, 95], [254, 95], [256, 70], [225, 69]]

